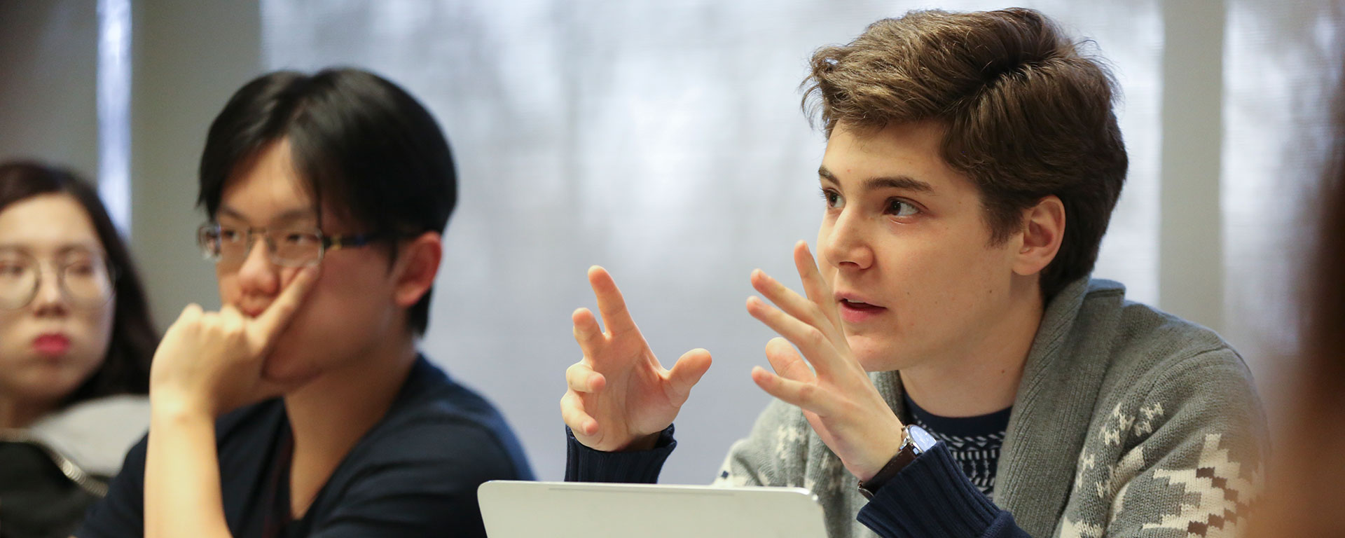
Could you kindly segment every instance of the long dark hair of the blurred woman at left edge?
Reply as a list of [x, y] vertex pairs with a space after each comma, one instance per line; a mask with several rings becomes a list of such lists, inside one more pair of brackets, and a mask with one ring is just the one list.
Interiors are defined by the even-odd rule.
[[79, 202], [98, 233], [108, 262], [116, 274], [116, 308], [112, 342], [98, 367], [62, 405], [112, 394], [148, 394], [149, 359], [159, 346], [159, 332], [149, 316], [149, 301], [140, 284], [130, 252], [108, 218], [98, 194], [73, 172], [32, 161], [0, 164], [0, 211], [13, 203], [46, 194], [65, 194]]

